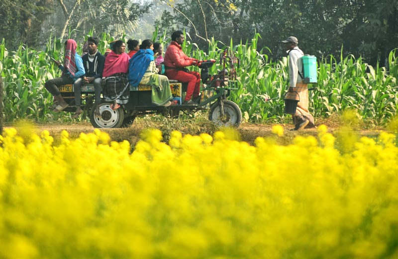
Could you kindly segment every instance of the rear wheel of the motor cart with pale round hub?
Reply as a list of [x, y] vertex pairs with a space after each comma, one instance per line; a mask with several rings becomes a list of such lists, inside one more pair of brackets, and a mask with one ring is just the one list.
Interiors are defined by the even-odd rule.
[[95, 106], [90, 112], [90, 122], [94, 128], [120, 128], [123, 124], [124, 113], [123, 108], [120, 107], [116, 111], [110, 108], [110, 103], [100, 104], [101, 117], [97, 118], [94, 116]]

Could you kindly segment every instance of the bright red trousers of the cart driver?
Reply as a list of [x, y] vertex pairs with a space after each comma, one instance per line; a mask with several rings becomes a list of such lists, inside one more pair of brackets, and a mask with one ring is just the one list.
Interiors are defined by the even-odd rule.
[[179, 80], [183, 83], [188, 83], [187, 95], [185, 101], [191, 100], [192, 95], [194, 98], [199, 96], [200, 91], [200, 74], [196, 71], [182, 71], [176, 69], [166, 69], [166, 75], [171, 80]]

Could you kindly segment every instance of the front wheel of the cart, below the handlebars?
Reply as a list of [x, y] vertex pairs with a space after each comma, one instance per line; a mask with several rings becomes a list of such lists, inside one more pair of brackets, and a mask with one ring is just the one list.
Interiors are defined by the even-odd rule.
[[229, 100], [221, 100], [224, 106], [224, 115], [221, 114], [221, 105], [215, 102], [210, 107], [208, 119], [217, 126], [239, 127], [242, 122], [242, 112], [239, 106]]

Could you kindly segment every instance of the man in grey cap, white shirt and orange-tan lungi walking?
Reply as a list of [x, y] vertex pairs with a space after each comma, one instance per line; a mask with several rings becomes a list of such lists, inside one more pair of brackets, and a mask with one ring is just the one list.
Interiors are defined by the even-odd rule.
[[298, 39], [290, 36], [282, 41], [289, 56], [289, 91], [286, 99], [299, 100], [296, 113], [292, 114], [295, 130], [314, 127], [314, 118], [308, 111], [308, 85], [303, 82], [302, 60], [304, 53], [298, 48]]

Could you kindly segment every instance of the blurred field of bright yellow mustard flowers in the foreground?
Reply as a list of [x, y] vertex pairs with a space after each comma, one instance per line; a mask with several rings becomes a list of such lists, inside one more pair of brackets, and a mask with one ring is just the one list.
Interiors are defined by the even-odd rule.
[[398, 258], [398, 147], [98, 129], [0, 136], [0, 258]]

